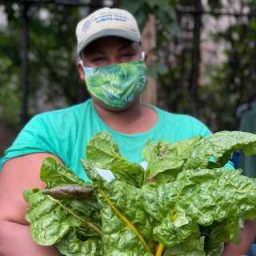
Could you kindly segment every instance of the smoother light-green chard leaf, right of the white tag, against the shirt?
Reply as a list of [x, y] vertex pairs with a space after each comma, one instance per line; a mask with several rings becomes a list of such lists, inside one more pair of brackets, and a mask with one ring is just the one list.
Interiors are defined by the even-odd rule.
[[149, 154], [147, 154], [149, 165], [146, 169], [146, 177], [152, 178], [165, 172], [169, 181], [174, 180], [185, 159], [201, 138], [201, 136], [197, 136], [175, 143], [162, 140], [154, 147], [150, 143], [144, 150], [145, 152], [146, 150], [151, 150], [152, 152], [150, 158], [148, 157]]

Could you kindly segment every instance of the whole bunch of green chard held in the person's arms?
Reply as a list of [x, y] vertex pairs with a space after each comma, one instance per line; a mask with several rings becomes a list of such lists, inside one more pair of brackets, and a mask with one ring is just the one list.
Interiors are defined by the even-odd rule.
[[54, 158], [43, 162], [46, 190], [24, 191], [30, 234], [64, 255], [221, 255], [225, 242], [240, 241], [244, 220], [256, 218], [256, 180], [223, 167], [236, 150], [256, 154], [256, 134], [149, 141], [144, 170], [98, 133], [81, 160], [92, 183]]

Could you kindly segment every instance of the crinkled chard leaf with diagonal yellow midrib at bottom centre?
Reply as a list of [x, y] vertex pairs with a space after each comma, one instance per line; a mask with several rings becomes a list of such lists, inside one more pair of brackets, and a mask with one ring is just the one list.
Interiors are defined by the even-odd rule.
[[99, 189], [106, 255], [150, 255], [153, 219], [145, 213], [142, 197], [142, 190], [126, 182], [110, 182]]

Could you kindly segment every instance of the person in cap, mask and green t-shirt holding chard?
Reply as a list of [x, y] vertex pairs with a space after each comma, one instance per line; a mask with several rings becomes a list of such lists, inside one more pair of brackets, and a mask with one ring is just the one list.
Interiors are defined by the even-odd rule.
[[[30, 238], [22, 192], [44, 188], [42, 161], [54, 157], [84, 180], [80, 165], [86, 142], [101, 130], [112, 134], [123, 157], [142, 162], [142, 146], [149, 139], [170, 142], [207, 136], [210, 130], [186, 114], [173, 114], [141, 102], [146, 86], [141, 36], [133, 15], [103, 8], [78, 23], [79, 76], [91, 98], [76, 106], [38, 114], [6, 150], [0, 174], [0, 254], [3, 256], [59, 255], [53, 246], [38, 246]], [[249, 222], [248, 222], [249, 223]], [[250, 225], [249, 225], [250, 224]], [[240, 255], [255, 233], [250, 222], [238, 246], [226, 244], [224, 255]]]

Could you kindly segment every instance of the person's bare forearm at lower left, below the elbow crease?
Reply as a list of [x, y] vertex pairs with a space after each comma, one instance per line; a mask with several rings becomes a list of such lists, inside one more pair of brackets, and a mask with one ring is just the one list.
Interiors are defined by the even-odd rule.
[[15, 222], [0, 223], [0, 255], [2, 256], [59, 256], [54, 246], [39, 246], [33, 242], [29, 226]]

